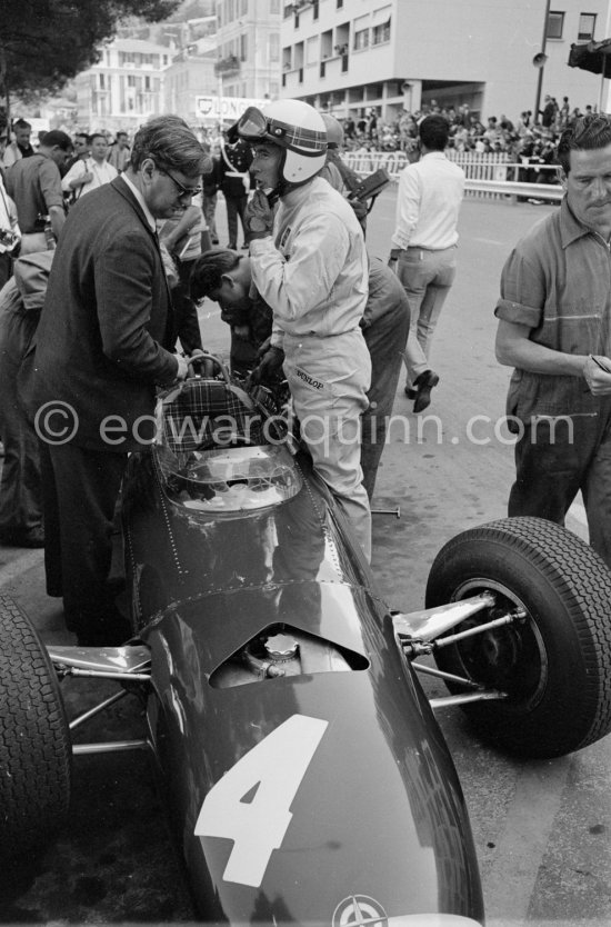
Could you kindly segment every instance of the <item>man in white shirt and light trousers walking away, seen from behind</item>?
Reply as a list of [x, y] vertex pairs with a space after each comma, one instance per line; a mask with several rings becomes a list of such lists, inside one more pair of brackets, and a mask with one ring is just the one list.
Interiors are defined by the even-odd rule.
[[[423, 411], [439, 376], [429, 367], [433, 332], [457, 267], [457, 225], [464, 172], [445, 157], [450, 126], [428, 116], [419, 126], [421, 158], [399, 178], [391, 267], [405, 290], [412, 327], [405, 349], [405, 395]], [[415, 323], [415, 325], [414, 325]]]

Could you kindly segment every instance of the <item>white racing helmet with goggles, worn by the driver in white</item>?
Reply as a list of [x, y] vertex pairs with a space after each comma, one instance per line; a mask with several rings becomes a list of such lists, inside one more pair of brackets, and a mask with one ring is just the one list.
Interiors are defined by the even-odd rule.
[[284, 149], [281, 181], [299, 187], [324, 167], [327, 129], [322, 116], [302, 100], [276, 100], [264, 109], [249, 107], [238, 134], [251, 144], [269, 141]]

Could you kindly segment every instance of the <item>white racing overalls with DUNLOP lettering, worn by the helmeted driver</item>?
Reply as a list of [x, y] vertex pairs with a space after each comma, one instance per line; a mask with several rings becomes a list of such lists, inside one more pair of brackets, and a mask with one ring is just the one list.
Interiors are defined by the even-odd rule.
[[371, 360], [359, 321], [368, 259], [351, 207], [314, 178], [282, 197], [273, 238], [251, 241], [252, 279], [273, 309], [272, 345], [284, 349], [301, 433], [315, 470], [371, 556], [371, 514], [362, 485], [360, 416]]

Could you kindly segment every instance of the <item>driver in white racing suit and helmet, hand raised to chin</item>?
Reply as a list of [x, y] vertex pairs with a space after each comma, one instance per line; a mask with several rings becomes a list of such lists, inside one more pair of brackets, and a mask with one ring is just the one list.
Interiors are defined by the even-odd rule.
[[[238, 133], [253, 147], [247, 208], [253, 282], [273, 310], [259, 376], [282, 362], [314, 469], [337, 497], [365, 557], [371, 514], [360, 466], [360, 415], [371, 361], [359, 322], [368, 297], [361, 227], [317, 177], [327, 160], [322, 117], [301, 100], [249, 107]], [[264, 191], [271, 191], [269, 199]], [[280, 198], [278, 209], [270, 200]]]

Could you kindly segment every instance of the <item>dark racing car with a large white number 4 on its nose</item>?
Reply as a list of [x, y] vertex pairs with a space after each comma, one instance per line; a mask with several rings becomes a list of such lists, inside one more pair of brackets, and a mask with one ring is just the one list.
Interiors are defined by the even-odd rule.
[[[277, 412], [221, 365], [160, 397], [122, 487], [124, 646], [46, 647], [4, 598], [3, 846], [64, 824], [80, 755], [143, 748], [204, 923], [482, 925], [434, 711], [462, 706], [522, 756], [604, 736], [609, 572], [569, 531], [503, 519], [442, 548], [424, 609], [393, 611]], [[428, 699], [420, 674], [448, 696]], [[91, 676], [117, 694], [69, 722], [62, 680]], [[72, 745], [123, 697], [144, 706], [144, 737]]]

